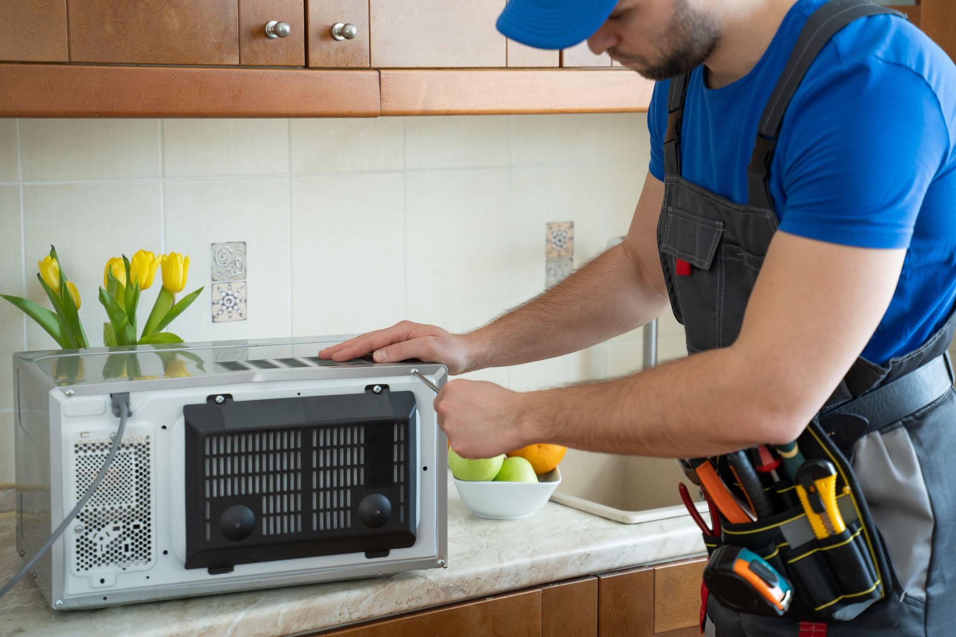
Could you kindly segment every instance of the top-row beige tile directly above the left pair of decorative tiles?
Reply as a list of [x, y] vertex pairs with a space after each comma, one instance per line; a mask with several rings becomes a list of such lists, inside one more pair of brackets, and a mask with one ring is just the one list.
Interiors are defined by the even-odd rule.
[[163, 119], [165, 177], [283, 175], [288, 119]]

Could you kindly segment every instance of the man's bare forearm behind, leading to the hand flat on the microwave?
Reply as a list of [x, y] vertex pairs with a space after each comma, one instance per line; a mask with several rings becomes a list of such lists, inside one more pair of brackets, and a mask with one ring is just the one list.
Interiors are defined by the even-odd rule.
[[636, 329], [669, 308], [624, 244], [468, 334], [484, 355], [468, 371], [553, 358]]

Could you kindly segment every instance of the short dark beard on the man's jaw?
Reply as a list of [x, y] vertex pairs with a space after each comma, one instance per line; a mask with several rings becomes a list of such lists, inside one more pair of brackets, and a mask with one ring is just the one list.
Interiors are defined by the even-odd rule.
[[674, 0], [674, 12], [661, 38], [666, 47], [663, 59], [651, 63], [643, 55], [608, 50], [619, 62], [640, 65], [636, 71], [647, 79], [661, 81], [687, 74], [704, 63], [720, 40], [720, 30], [707, 15], [690, 9], [687, 0]]

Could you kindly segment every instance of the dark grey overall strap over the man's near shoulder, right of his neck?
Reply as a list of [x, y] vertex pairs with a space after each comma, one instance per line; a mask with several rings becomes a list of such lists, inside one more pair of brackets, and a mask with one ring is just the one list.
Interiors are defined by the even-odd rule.
[[753, 145], [753, 156], [747, 169], [750, 204], [763, 208], [772, 208], [770, 190], [770, 169], [773, 152], [776, 149], [777, 136], [783, 125], [783, 117], [800, 87], [804, 75], [814, 63], [816, 56], [827, 42], [843, 27], [854, 20], [867, 16], [891, 13], [905, 18], [900, 11], [869, 2], [868, 0], [831, 0], [817, 9], [800, 32], [793, 47], [790, 61], [787, 62], [780, 81], [773, 89], [770, 101], [757, 129], [757, 140]]

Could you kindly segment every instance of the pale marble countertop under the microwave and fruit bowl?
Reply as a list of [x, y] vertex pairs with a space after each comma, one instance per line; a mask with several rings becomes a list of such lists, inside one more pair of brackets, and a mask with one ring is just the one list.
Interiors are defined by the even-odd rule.
[[[22, 567], [14, 530], [0, 520], [0, 584]], [[524, 520], [483, 520], [449, 480], [447, 568], [62, 612], [28, 577], [0, 600], [0, 635], [279, 637], [703, 551], [689, 516], [621, 524], [548, 502]]]

